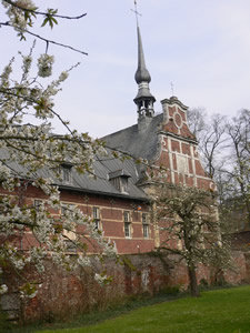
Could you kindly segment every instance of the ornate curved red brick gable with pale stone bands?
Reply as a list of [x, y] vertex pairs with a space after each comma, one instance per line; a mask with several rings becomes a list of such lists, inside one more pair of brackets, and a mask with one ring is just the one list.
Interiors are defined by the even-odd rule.
[[160, 132], [162, 149], [156, 164], [161, 164], [173, 172], [172, 176], [168, 176], [168, 182], [209, 190], [211, 179], [201, 165], [196, 137], [188, 128], [187, 107], [177, 98], [162, 101], [162, 105], [164, 119]]

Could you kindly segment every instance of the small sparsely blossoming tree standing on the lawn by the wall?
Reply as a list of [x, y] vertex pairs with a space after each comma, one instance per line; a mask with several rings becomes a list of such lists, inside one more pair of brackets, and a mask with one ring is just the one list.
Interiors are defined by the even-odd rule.
[[220, 235], [214, 198], [208, 191], [160, 184], [157, 196], [161, 248], [188, 266], [190, 292], [199, 296], [197, 265], [221, 270], [230, 265], [230, 252]]

